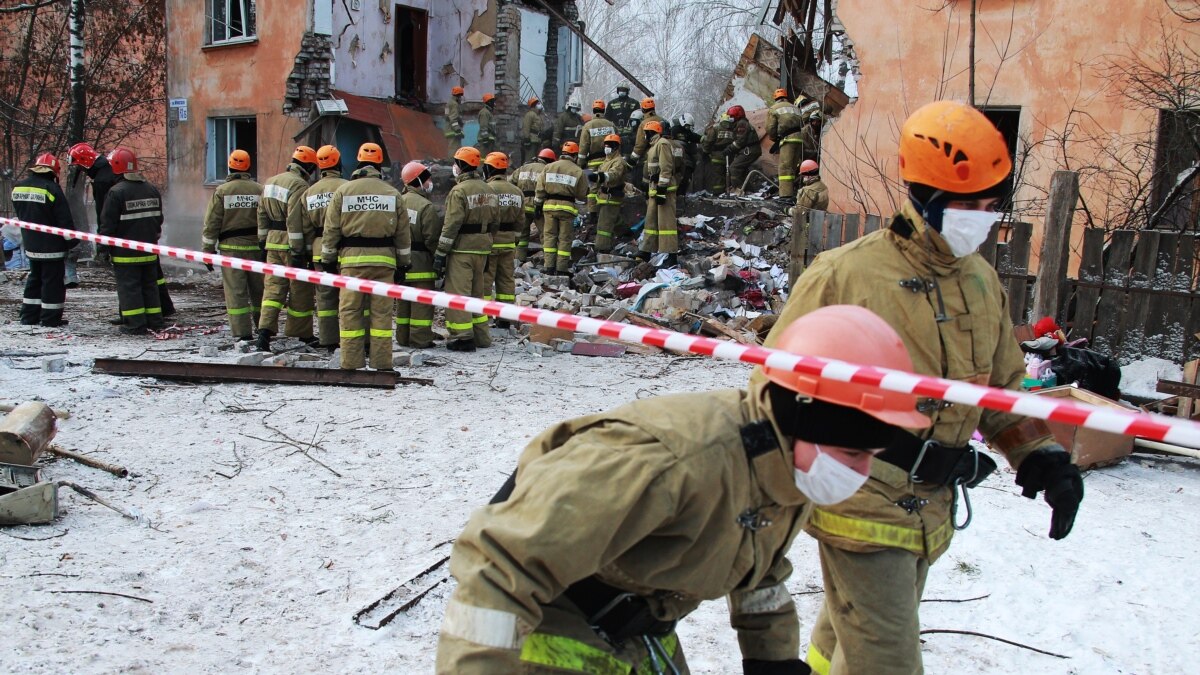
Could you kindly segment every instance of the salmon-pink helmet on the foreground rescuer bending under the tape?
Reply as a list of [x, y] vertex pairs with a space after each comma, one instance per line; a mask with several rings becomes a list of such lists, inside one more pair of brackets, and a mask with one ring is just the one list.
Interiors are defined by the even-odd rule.
[[[827, 305], [792, 322], [776, 348], [858, 365], [912, 372], [912, 359], [888, 322], [857, 305]], [[822, 380], [815, 375], [763, 366], [767, 380], [804, 396], [858, 408], [887, 424], [924, 429], [930, 419], [917, 412], [917, 396], [856, 382]]]

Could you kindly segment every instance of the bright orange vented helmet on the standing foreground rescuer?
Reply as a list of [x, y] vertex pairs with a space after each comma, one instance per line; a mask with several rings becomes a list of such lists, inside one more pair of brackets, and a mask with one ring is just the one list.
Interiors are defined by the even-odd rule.
[[964, 195], [994, 187], [1012, 171], [1004, 137], [965, 103], [926, 103], [900, 129], [900, 178], [907, 183]]

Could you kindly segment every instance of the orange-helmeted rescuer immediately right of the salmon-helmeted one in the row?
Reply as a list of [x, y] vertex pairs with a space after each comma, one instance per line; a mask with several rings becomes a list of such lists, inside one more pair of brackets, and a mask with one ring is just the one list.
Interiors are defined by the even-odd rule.
[[[480, 179], [484, 157], [479, 150], [460, 148], [454, 156], [456, 185], [446, 195], [446, 220], [433, 255], [433, 271], [445, 271], [446, 293], [484, 297], [484, 271], [492, 255], [492, 234], [497, 229], [496, 192]], [[474, 352], [491, 347], [492, 334], [487, 316], [446, 309], [446, 329], [452, 352]]]

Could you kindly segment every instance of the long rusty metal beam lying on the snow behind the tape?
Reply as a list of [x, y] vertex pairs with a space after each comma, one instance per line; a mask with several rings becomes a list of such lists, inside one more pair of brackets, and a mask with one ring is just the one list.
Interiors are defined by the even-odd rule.
[[270, 384], [330, 384], [335, 387], [371, 387], [395, 389], [400, 381], [418, 384], [428, 380], [406, 377], [379, 370], [341, 370], [325, 368], [275, 368], [223, 363], [158, 362], [136, 359], [96, 359], [92, 372], [134, 377], [158, 377], [186, 382], [263, 382]]

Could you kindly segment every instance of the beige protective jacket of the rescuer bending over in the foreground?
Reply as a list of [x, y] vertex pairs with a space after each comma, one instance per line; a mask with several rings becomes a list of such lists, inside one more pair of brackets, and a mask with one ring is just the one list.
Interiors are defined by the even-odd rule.
[[744, 658], [798, 658], [785, 556], [808, 502], [778, 429], [754, 459], [740, 432], [768, 414], [752, 386], [646, 399], [536, 436], [511, 497], [476, 510], [455, 542], [437, 671], [520, 673], [544, 607], [593, 574], [662, 620], [728, 597]]

